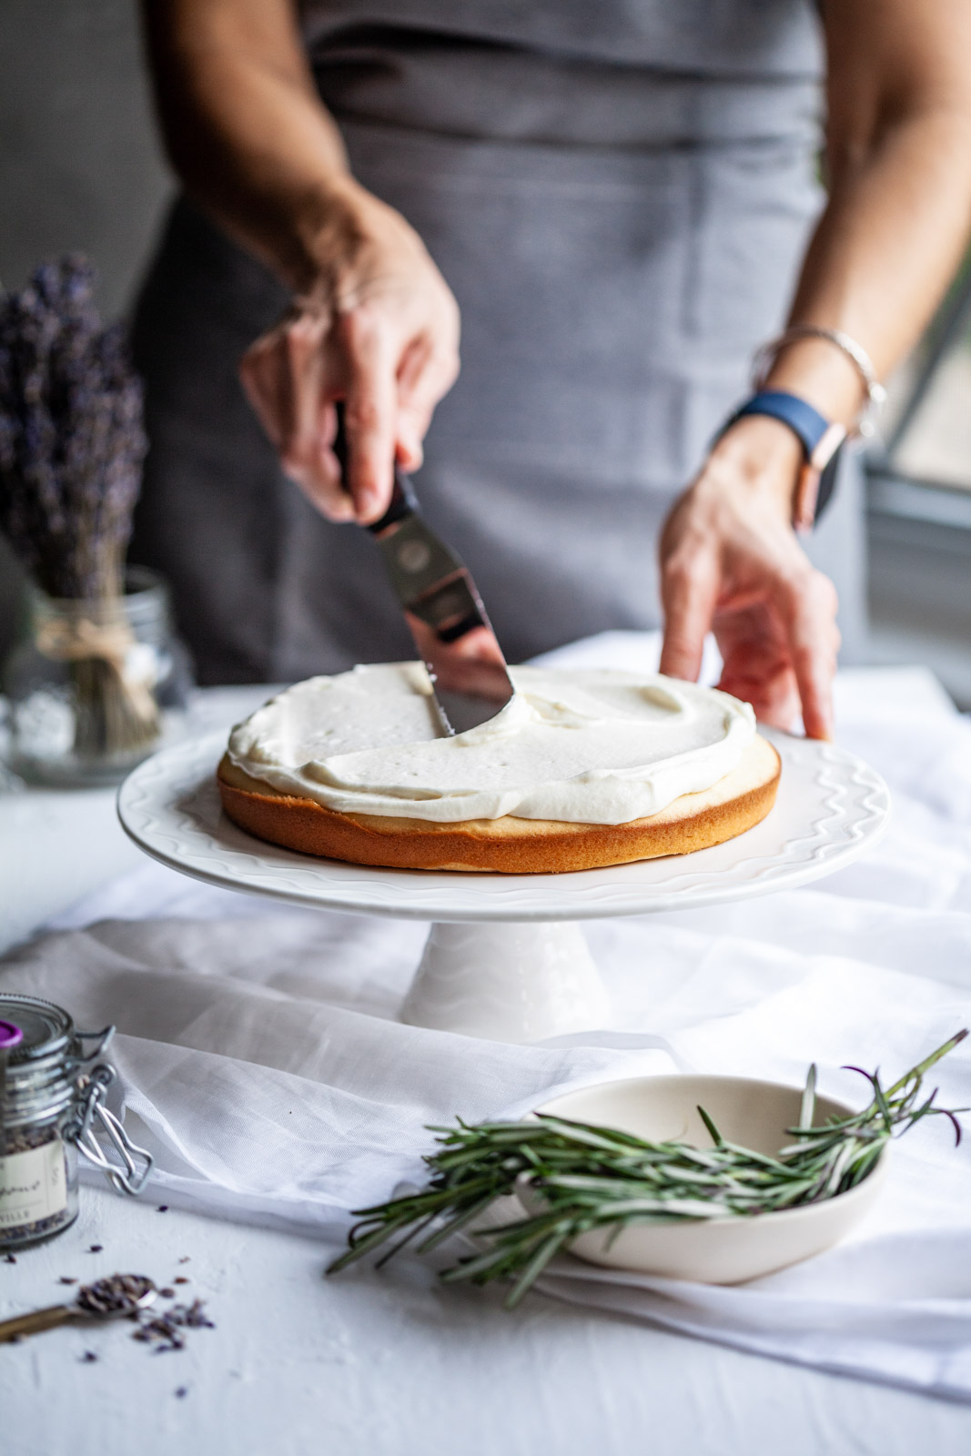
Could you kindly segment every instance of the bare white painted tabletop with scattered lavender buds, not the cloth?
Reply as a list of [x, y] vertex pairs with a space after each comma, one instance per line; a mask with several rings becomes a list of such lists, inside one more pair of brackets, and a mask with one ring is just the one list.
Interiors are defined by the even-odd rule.
[[[259, 690], [213, 695], [208, 724]], [[137, 862], [114, 796], [0, 798], [0, 938], [13, 943]], [[92, 1243], [103, 1245], [90, 1254]], [[534, 1296], [441, 1289], [413, 1261], [325, 1281], [316, 1238], [82, 1190], [67, 1233], [0, 1261], [0, 1315], [61, 1275], [140, 1271], [207, 1300], [215, 1329], [154, 1354], [125, 1324], [0, 1348], [4, 1456], [843, 1456], [971, 1450], [965, 1405], [828, 1376]], [[188, 1264], [178, 1261], [185, 1255]], [[83, 1353], [98, 1354], [95, 1363]], [[178, 1396], [176, 1390], [186, 1393]]]

